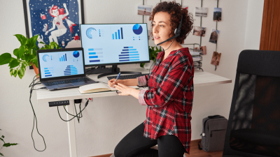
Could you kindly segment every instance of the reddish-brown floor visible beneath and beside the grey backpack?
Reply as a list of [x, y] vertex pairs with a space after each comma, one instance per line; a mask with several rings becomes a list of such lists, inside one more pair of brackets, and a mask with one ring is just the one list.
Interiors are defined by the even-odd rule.
[[[190, 142], [190, 155], [186, 154], [187, 157], [222, 157], [223, 151], [215, 151], [215, 152], [205, 152], [203, 150], [198, 149], [198, 142], [200, 140], [193, 140]], [[105, 154], [102, 156], [91, 156], [91, 157], [110, 157], [112, 154]]]

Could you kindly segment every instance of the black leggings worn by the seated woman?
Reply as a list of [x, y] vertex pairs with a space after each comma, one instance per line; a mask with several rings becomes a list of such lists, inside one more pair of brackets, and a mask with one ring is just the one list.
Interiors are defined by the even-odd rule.
[[[134, 128], [115, 148], [116, 157], [183, 157], [185, 148], [175, 135], [164, 135], [157, 140], [144, 137], [144, 123]], [[158, 150], [150, 147], [158, 144]]]

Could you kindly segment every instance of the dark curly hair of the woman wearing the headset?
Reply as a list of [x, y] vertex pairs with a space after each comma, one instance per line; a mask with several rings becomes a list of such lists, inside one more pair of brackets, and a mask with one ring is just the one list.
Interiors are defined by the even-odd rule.
[[[176, 38], [176, 41], [178, 43], [182, 43], [183, 40], [187, 38], [190, 31], [193, 29], [193, 14], [188, 13], [188, 10], [182, 8], [181, 4], [176, 3], [175, 1], [163, 1], [161, 3], [158, 3], [157, 6], [153, 8], [153, 12], [149, 17], [149, 20], [151, 21], [151, 30], [153, 30], [153, 18], [155, 17], [155, 14], [159, 12], [166, 12], [171, 15], [170, 26], [172, 27], [172, 33], [169, 34], [169, 37], [175, 35], [174, 30], [179, 26], [181, 17], [183, 15], [181, 33], [180, 36]], [[151, 31], [151, 36], [153, 36], [153, 31]]]

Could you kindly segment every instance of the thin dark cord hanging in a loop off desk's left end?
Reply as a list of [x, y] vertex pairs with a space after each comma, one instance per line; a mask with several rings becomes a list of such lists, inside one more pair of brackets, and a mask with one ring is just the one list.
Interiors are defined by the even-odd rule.
[[[36, 77], [36, 75], [35, 75], [35, 77]], [[32, 103], [31, 103], [32, 91], [33, 91], [33, 90], [38, 90], [38, 89], [34, 89], [34, 86], [37, 85], [37, 84], [41, 84], [41, 82], [36, 82], [36, 80], [37, 80], [38, 78], [35, 79], [35, 77], [33, 78], [33, 81], [31, 82], [31, 84], [29, 84], [29, 88], [31, 87], [31, 89], [30, 89], [30, 96], [29, 96], [29, 102], [30, 102], [30, 105], [31, 105], [31, 108], [32, 108], [33, 114], [34, 114], [34, 117], [33, 117], [33, 128], [32, 128], [32, 131], [31, 131], [31, 138], [32, 138], [32, 141], [33, 141], [34, 149], [36, 149], [36, 147], [35, 147], [35, 142], [34, 142], [34, 138], [33, 138], [33, 130], [34, 130], [35, 121], [36, 121], [36, 130], [37, 130], [37, 133], [38, 133], [39, 135], [41, 135], [41, 133], [39, 133], [39, 131], [38, 131], [37, 117], [36, 117], [36, 114], [35, 114], [33, 105], [32, 105]], [[35, 82], [36, 82], [36, 83], [35, 83]], [[42, 88], [40, 88], [40, 89], [44, 89], [44, 88], [45, 88], [45, 87], [42, 87]], [[43, 142], [44, 142], [44, 144], [45, 144], [45, 139], [44, 139], [43, 135], [41, 135], [41, 137], [43, 138]], [[45, 145], [45, 149], [46, 149], [46, 148], [47, 148], [47, 146]], [[43, 149], [42, 151], [45, 151], [45, 149]], [[40, 151], [40, 150], [36, 149], [36, 151]]]

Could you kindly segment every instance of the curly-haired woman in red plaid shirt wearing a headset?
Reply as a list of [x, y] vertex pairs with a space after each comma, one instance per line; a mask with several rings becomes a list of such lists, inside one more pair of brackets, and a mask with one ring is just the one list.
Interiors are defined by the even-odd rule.
[[[183, 16], [183, 17], [182, 17]], [[180, 36], [174, 30], [182, 19]], [[116, 157], [182, 157], [190, 153], [190, 112], [193, 105], [193, 58], [180, 43], [193, 29], [193, 15], [179, 3], [158, 3], [150, 16], [153, 38], [165, 50], [160, 52], [150, 75], [129, 80], [109, 80], [122, 93], [134, 96], [147, 106], [146, 120], [128, 133], [114, 151]], [[147, 85], [137, 90], [127, 86]], [[158, 144], [158, 150], [150, 147]]]

